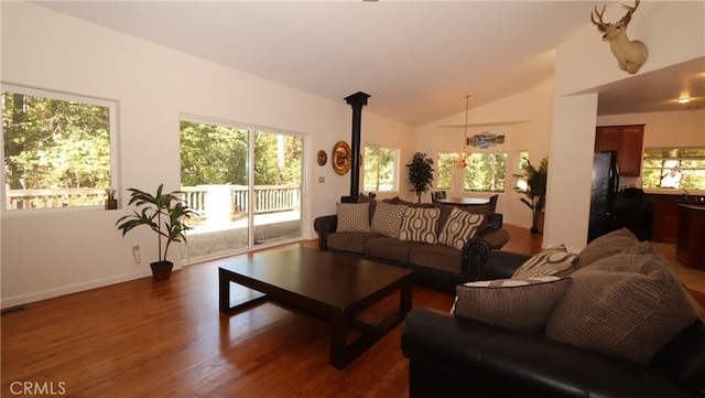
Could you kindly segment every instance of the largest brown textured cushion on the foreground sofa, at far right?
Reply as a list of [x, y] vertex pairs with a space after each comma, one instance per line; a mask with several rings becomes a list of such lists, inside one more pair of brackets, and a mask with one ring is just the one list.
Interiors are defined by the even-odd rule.
[[643, 243], [573, 272], [545, 336], [648, 363], [697, 316], [671, 263], [651, 250]]

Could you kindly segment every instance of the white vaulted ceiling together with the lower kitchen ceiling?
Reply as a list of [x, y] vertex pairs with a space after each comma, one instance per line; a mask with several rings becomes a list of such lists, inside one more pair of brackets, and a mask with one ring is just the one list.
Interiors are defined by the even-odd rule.
[[[371, 96], [367, 110], [412, 126], [463, 111], [467, 94], [474, 107], [549, 78], [553, 50], [589, 23], [595, 6], [399, 0], [35, 3], [335, 101], [365, 92]], [[600, 115], [672, 110], [673, 84], [687, 84], [691, 97], [699, 97], [691, 106], [705, 107], [705, 58], [671, 69], [600, 87]]]

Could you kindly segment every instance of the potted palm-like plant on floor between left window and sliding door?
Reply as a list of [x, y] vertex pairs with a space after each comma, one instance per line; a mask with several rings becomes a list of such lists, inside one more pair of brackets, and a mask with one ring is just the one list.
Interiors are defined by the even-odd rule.
[[[182, 203], [178, 194], [180, 191], [163, 193], [164, 184], [160, 184], [156, 194], [152, 195], [147, 192], [129, 189], [130, 202], [128, 205], [134, 204], [138, 211], [116, 222], [118, 229], [122, 230], [122, 236], [140, 225], [147, 225], [158, 235], [159, 243], [159, 261], [150, 263], [152, 267], [152, 276], [154, 280], [169, 279], [172, 272], [173, 262], [166, 259], [169, 246], [174, 241], [186, 243], [184, 232], [191, 229], [187, 224], [188, 218], [194, 213], [188, 206]], [[162, 251], [162, 238], [166, 240], [164, 251]]]

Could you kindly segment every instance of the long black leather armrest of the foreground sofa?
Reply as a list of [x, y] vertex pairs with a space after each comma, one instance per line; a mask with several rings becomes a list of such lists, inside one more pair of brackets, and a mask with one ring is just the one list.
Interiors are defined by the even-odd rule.
[[696, 396], [648, 365], [425, 308], [409, 312], [401, 345], [412, 365], [457, 378], [467, 391], [477, 387], [502, 397], [528, 391], [535, 397]]

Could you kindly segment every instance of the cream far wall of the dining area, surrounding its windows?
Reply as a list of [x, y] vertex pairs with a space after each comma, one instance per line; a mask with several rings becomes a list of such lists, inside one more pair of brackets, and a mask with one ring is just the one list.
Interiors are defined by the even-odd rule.
[[[465, 104], [463, 98], [458, 98], [458, 105], [460, 104]], [[471, 104], [470, 93], [470, 107]], [[538, 165], [549, 153], [552, 105], [553, 79], [547, 79], [532, 89], [487, 105], [471, 107], [468, 112], [468, 137], [490, 131], [505, 135], [506, 139], [503, 144], [487, 150], [468, 148], [468, 151], [501, 151], [508, 152], [510, 158], [516, 152], [529, 151], [531, 162]], [[464, 125], [465, 110], [421, 126], [416, 132], [419, 150], [429, 153], [434, 160], [437, 160], [437, 152], [459, 152], [463, 149]], [[516, 179], [511, 174], [518, 168], [514, 160], [508, 161], [506, 191], [498, 197], [497, 212], [503, 214], [505, 223], [530, 228], [531, 209], [519, 201], [522, 195], [512, 190]], [[456, 174], [451, 195], [478, 197], [491, 195], [490, 193], [464, 193], [462, 175]], [[426, 202], [429, 201], [430, 197], [426, 197]]]

